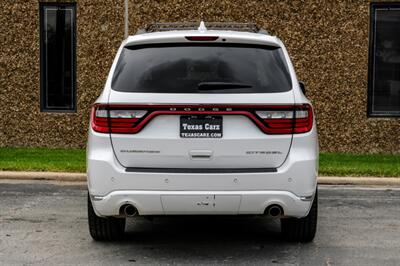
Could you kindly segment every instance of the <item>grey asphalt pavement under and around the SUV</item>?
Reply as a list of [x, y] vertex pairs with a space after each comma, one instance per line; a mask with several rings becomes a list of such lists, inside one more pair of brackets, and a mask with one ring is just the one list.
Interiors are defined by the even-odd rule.
[[400, 189], [320, 186], [312, 243], [288, 243], [254, 217], [130, 220], [126, 239], [95, 242], [86, 188], [0, 182], [0, 265], [400, 265]]

